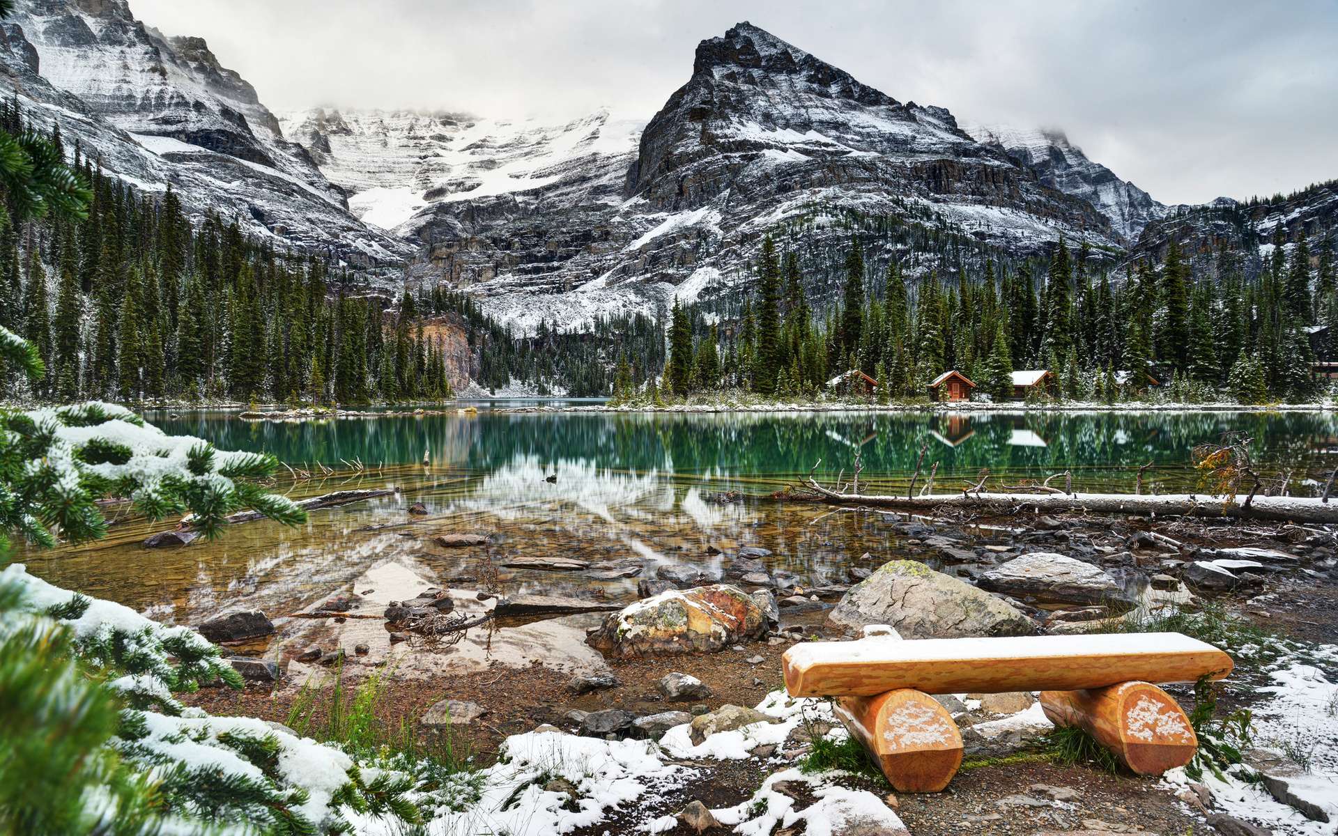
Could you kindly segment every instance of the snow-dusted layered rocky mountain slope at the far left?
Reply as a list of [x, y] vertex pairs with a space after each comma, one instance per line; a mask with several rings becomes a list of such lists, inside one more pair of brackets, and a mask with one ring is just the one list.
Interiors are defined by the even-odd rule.
[[165, 37], [124, 0], [27, 0], [4, 23], [0, 88], [35, 123], [136, 189], [171, 183], [187, 211], [237, 217], [253, 234], [359, 264], [408, 247], [348, 211], [310, 155], [198, 37]]

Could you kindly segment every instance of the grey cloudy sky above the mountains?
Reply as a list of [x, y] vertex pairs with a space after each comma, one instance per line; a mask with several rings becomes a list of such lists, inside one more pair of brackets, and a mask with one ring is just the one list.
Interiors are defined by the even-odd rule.
[[649, 118], [749, 20], [959, 122], [1060, 127], [1165, 203], [1338, 177], [1338, 1], [131, 0], [272, 110]]

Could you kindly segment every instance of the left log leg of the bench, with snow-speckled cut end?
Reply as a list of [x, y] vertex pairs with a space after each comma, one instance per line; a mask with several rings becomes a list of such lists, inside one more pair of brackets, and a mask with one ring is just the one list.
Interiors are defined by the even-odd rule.
[[835, 714], [898, 792], [939, 792], [962, 765], [962, 733], [953, 716], [913, 688], [840, 697]]

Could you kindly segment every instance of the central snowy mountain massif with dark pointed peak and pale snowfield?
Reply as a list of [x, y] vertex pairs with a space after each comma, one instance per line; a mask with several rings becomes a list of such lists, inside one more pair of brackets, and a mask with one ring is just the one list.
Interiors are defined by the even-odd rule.
[[946, 110], [902, 104], [747, 23], [701, 41], [644, 131], [607, 111], [542, 126], [317, 110], [281, 124], [364, 221], [419, 247], [412, 277], [446, 277], [527, 330], [725, 293], [765, 233], [801, 229], [804, 250], [847, 238], [843, 213], [1013, 253], [1116, 239]]

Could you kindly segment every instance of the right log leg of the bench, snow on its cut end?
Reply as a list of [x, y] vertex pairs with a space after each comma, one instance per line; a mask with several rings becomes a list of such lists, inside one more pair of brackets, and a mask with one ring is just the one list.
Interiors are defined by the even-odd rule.
[[1041, 708], [1057, 726], [1086, 729], [1137, 774], [1184, 766], [1199, 746], [1175, 698], [1147, 682], [1041, 692]]

